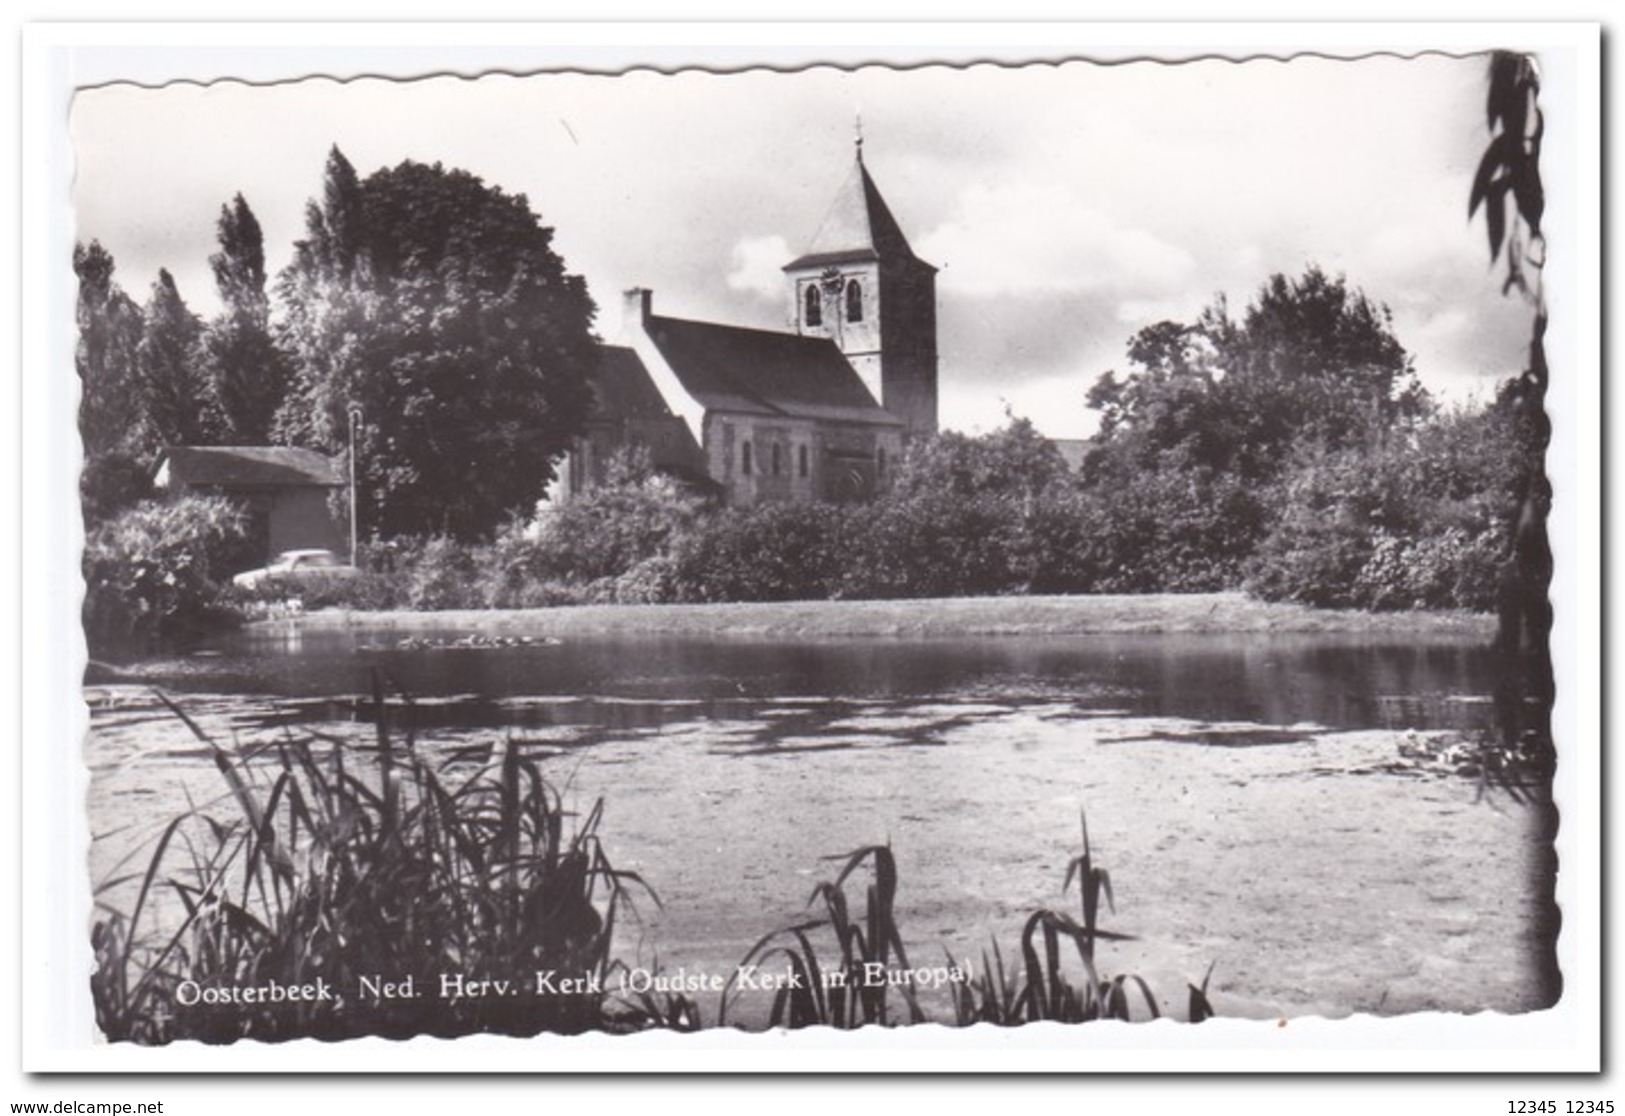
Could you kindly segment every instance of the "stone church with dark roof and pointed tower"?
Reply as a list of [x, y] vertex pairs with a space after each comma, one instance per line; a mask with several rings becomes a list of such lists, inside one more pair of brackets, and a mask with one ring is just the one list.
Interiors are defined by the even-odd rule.
[[728, 505], [882, 492], [908, 440], [936, 434], [936, 268], [908, 247], [861, 138], [783, 271], [793, 333], [663, 317], [652, 291], [627, 291], [624, 343], [603, 348], [554, 499], [603, 484], [629, 448]]

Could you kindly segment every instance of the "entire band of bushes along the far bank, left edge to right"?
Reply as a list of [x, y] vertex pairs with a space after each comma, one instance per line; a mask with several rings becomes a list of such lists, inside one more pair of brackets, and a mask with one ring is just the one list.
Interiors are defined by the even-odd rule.
[[221, 590], [242, 523], [219, 500], [141, 504], [86, 543], [98, 642], [219, 611], [1155, 593], [1246, 588], [1321, 608], [1495, 604], [1526, 482], [1516, 416], [1438, 417], [1375, 447], [1302, 452], [1271, 482], [1190, 463], [1068, 471], [1027, 424], [916, 448], [869, 504], [723, 508], [629, 463], [489, 543], [401, 538], [359, 577]]

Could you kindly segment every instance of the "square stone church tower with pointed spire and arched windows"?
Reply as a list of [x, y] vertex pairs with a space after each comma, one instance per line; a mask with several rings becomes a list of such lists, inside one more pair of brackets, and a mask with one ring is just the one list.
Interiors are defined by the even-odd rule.
[[936, 268], [886, 208], [861, 135], [852, 174], [785, 276], [796, 333], [832, 338], [910, 435], [936, 434]]

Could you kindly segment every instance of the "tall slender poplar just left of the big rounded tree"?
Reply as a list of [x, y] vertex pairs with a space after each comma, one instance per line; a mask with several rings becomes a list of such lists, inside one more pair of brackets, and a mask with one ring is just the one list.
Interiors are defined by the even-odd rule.
[[240, 445], [270, 439], [288, 393], [288, 362], [271, 338], [265, 294], [265, 237], [239, 193], [219, 208], [219, 252], [210, 257], [224, 309], [203, 331], [203, 377], [219, 408], [223, 435]]

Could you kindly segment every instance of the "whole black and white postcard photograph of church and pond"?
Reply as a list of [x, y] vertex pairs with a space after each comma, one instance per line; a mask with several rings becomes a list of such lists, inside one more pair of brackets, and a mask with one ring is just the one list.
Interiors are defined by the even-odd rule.
[[1539, 1067], [1586, 49], [76, 84], [68, 1032]]

